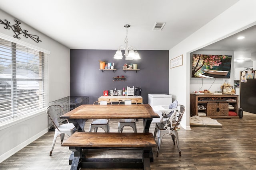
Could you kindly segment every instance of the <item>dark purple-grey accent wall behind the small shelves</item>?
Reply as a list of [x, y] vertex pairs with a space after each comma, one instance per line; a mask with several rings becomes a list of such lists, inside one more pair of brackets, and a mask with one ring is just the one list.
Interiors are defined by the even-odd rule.
[[[123, 89], [123, 87], [141, 87], [143, 103], [148, 104], [149, 93], [168, 94], [167, 50], [141, 50], [140, 60], [128, 61], [113, 59], [116, 50], [70, 50], [70, 96], [89, 96], [90, 104], [103, 96], [103, 90]], [[122, 51], [124, 54], [124, 51]], [[100, 69], [101, 61], [115, 63], [115, 72]], [[127, 64], [138, 64], [139, 71], [122, 70]], [[113, 77], [125, 76], [126, 81], [113, 81]]]

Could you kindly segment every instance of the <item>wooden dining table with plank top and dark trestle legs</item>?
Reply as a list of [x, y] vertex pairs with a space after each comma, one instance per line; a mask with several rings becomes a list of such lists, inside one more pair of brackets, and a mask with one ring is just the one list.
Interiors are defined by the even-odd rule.
[[140, 105], [92, 105], [84, 104], [60, 116], [74, 123], [78, 131], [84, 131], [88, 119], [143, 119], [143, 132], [149, 133], [153, 118], [159, 118], [149, 104]]

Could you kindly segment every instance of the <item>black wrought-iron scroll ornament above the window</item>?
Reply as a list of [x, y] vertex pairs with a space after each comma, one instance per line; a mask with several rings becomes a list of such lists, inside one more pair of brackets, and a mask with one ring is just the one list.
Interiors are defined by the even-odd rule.
[[42, 42], [37, 35], [29, 34], [26, 29], [22, 30], [20, 27], [20, 24], [21, 24], [20, 21], [14, 20], [16, 22], [14, 25], [10, 25], [10, 22], [7, 20], [4, 20], [4, 21], [0, 20], [0, 23], [5, 25], [4, 26], [5, 29], [12, 29], [12, 31], [15, 33], [15, 35], [13, 35], [14, 38], [20, 39], [19, 35], [23, 34], [24, 37], [26, 38], [30, 37], [37, 43], [39, 43], [39, 41]]

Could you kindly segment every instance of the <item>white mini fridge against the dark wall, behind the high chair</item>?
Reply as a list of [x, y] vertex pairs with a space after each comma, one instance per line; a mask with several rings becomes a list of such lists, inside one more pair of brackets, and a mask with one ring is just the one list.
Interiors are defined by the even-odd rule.
[[[148, 94], [148, 104], [152, 106], [170, 105], [172, 103], [172, 95], [169, 94]], [[153, 118], [152, 122], [160, 122], [162, 111], [156, 111], [160, 118]]]

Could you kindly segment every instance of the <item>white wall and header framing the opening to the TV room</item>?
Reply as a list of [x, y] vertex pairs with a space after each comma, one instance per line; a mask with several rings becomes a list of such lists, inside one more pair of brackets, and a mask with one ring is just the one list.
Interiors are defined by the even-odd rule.
[[[256, 1], [240, 0], [170, 49], [169, 58], [183, 55], [183, 65], [169, 70], [169, 93], [186, 107], [182, 127], [190, 129], [190, 53], [256, 24]], [[176, 81], [175, 81], [176, 80]]]

